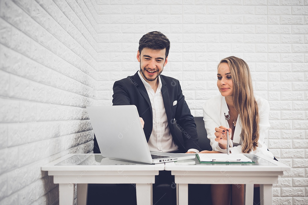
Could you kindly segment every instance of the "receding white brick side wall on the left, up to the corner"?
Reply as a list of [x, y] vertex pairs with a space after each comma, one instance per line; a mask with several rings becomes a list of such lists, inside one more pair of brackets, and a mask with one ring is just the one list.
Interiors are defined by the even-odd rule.
[[89, 1], [0, 1], [0, 204], [57, 204], [41, 166], [93, 150], [94, 12]]

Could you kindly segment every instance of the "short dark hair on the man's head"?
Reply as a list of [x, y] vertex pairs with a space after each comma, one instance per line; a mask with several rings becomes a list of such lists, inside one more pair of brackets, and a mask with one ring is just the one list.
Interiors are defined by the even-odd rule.
[[150, 48], [153, 50], [162, 50], [166, 48], [166, 58], [169, 54], [170, 41], [169, 39], [159, 31], [152, 31], [144, 34], [139, 40], [139, 53], [141, 54], [142, 49]]

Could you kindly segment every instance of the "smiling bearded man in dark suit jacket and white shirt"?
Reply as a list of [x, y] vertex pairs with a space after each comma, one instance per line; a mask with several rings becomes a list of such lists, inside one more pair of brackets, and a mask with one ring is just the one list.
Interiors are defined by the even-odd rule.
[[[140, 69], [133, 76], [116, 81], [113, 86], [113, 105], [136, 105], [151, 151], [198, 153], [196, 124], [182, 94], [177, 79], [160, 75], [168, 62], [170, 41], [158, 32], [145, 34], [139, 41], [137, 60]], [[177, 123], [182, 136], [176, 136]], [[162, 171], [156, 177], [153, 203], [174, 204], [175, 187], [170, 172]], [[170, 196], [157, 194], [155, 187], [170, 184]], [[173, 182], [174, 183], [174, 182]], [[162, 199], [161, 199], [162, 198]], [[164, 203], [162, 203], [164, 201]]]

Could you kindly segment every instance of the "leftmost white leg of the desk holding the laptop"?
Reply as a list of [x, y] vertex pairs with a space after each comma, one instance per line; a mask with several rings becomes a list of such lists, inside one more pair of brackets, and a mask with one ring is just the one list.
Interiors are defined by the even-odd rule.
[[74, 184], [59, 184], [59, 205], [74, 204]]

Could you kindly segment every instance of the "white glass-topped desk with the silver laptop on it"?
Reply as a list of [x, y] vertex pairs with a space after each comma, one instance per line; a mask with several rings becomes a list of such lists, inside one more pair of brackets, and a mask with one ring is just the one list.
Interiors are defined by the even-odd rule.
[[138, 205], [152, 204], [152, 184], [164, 164], [136, 164], [102, 157], [101, 154], [68, 154], [42, 167], [59, 184], [59, 205], [85, 205], [88, 184], [136, 184]]

